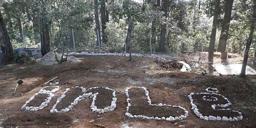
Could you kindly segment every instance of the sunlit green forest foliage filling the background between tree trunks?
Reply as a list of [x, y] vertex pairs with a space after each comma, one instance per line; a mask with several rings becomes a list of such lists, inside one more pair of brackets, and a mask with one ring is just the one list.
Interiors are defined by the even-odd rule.
[[[201, 51], [202, 42], [203, 51], [208, 51], [214, 0], [201, 0], [200, 10], [198, 4], [198, 0], [170, 0], [165, 44], [168, 54], [176, 52], [176, 44], [180, 53]], [[100, 2], [98, 6], [100, 8]], [[45, 22], [49, 25], [52, 48], [74, 51], [72, 29], [77, 51], [97, 48], [92, 0], [4, 0], [1, 7], [4, 10], [3, 16], [14, 48], [23, 47], [18, 19], [23, 26], [27, 47], [36, 47], [40, 44], [40, 18], [45, 18]], [[152, 38], [156, 38], [156, 43], [152, 44], [152, 49], [156, 53], [161, 24], [165, 21], [162, 7], [157, 5], [157, 0], [144, 0], [143, 4], [132, 0], [108, 0], [106, 7], [110, 21], [106, 25], [108, 42], [102, 44], [103, 50], [124, 52], [128, 29], [127, 17], [131, 16], [134, 23], [130, 40], [133, 52], [150, 53], [150, 30], [152, 30], [152, 22], [155, 21], [156, 37]], [[220, 8], [216, 48], [224, 16], [224, 0], [221, 0]], [[241, 53], [245, 48], [251, 8], [252, 0], [234, 0], [228, 36], [229, 51], [232, 53]], [[37, 22], [33, 20], [36, 18], [38, 18]], [[253, 49], [254, 46], [250, 49], [250, 56]]]

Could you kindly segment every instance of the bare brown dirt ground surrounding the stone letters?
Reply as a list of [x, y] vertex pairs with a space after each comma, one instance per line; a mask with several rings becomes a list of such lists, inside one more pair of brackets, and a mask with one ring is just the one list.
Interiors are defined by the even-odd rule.
[[[123, 56], [76, 56], [82, 62], [51, 66], [40, 64], [0, 66], [0, 124], [4, 128], [255, 128], [256, 127], [256, 76], [205, 76], [193, 73], [155, 70], [158, 66], [152, 58], [136, 57], [128, 61]], [[44, 83], [58, 76], [60, 90], [44, 109], [22, 112], [23, 104]], [[15, 95], [16, 81], [22, 79]], [[50, 109], [66, 88], [83, 86], [109, 87], [116, 90], [116, 108], [112, 112], [97, 114], [90, 110], [92, 99], [78, 102], [65, 113], [52, 114]], [[126, 87], [144, 86], [152, 104], [180, 105], [189, 112], [185, 120], [178, 122], [128, 118], [126, 112]], [[204, 92], [207, 87], [218, 88], [227, 97], [230, 109], [242, 112], [239, 122], [204, 121], [191, 111], [187, 95]], [[97, 125], [99, 124], [99, 125]]]

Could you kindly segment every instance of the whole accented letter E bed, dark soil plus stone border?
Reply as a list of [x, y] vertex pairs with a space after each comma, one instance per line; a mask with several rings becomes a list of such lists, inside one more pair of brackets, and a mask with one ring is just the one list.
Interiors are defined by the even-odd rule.
[[240, 121], [243, 119], [241, 112], [228, 108], [232, 105], [228, 98], [215, 93], [218, 92], [217, 88], [208, 87], [206, 91], [188, 95], [191, 110], [196, 116], [210, 121]]

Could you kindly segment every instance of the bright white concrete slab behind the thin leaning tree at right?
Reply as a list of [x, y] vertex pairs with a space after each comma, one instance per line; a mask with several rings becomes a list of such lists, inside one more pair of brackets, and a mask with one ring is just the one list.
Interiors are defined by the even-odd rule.
[[[212, 66], [222, 76], [240, 75], [242, 69], [242, 64], [213, 64]], [[246, 75], [256, 75], [256, 70], [246, 66]]]

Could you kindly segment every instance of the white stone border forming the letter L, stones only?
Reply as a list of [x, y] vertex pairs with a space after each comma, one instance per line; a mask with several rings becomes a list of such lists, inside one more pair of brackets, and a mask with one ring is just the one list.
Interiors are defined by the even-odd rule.
[[148, 99], [148, 105], [149, 106], [161, 106], [161, 107], [172, 107], [172, 108], [178, 108], [178, 109], [182, 109], [184, 111], [184, 115], [180, 115], [180, 116], [175, 116], [175, 117], [154, 117], [154, 116], [151, 116], [151, 117], [148, 117], [148, 116], [144, 116], [144, 115], [132, 115], [131, 113], [128, 112], [129, 110], [129, 107], [132, 106], [132, 104], [130, 104], [130, 98], [129, 98], [129, 93], [128, 91], [130, 90], [130, 88], [126, 88], [125, 90], [125, 93], [126, 93], [126, 96], [127, 96], [127, 103], [128, 103], [128, 106], [126, 107], [126, 113], [125, 115], [130, 117], [130, 118], [143, 118], [143, 119], [148, 119], [148, 120], [167, 120], [167, 121], [177, 121], [177, 120], [183, 120], [183, 119], [186, 119], [187, 116], [188, 116], [188, 111], [181, 107], [181, 106], [172, 106], [172, 105], [166, 105], [166, 104], [151, 104], [151, 100], [150, 100], [150, 97], [149, 97], [149, 92], [148, 90], [145, 88], [145, 87], [131, 87], [131, 88], [142, 88], [145, 92], [145, 96], [147, 97]]

